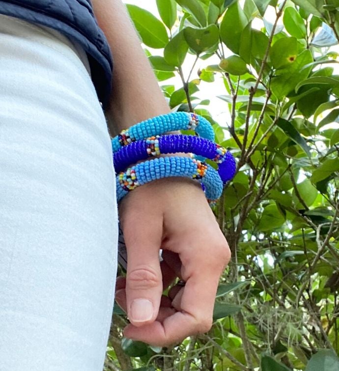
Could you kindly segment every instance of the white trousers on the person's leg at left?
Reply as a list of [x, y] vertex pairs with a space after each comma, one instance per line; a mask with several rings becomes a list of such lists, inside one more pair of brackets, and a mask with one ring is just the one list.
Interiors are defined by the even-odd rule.
[[101, 371], [118, 220], [83, 49], [0, 15], [0, 370]]

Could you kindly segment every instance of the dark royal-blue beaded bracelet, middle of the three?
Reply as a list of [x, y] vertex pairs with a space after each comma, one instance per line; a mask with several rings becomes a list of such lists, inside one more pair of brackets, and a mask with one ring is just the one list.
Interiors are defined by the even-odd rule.
[[177, 152], [192, 152], [213, 160], [219, 164], [218, 173], [224, 183], [234, 176], [235, 160], [232, 154], [219, 144], [193, 135], [162, 135], [130, 143], [114, 153], [114, 169], [119, 172], [150, 156]]

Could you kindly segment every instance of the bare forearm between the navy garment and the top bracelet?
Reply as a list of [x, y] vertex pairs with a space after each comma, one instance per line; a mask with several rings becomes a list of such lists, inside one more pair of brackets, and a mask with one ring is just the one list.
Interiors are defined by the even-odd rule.
[[114, 58], [112, 94], [105, 111], [111, 133], [169, 113], [125, 5], [121, 0], [92, 0], [92, 5]]

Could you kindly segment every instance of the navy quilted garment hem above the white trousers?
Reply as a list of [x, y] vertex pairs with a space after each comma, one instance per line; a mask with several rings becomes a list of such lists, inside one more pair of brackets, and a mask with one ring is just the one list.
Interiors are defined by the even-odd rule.
[[113, 57], [90, 0], [0, 0], [0, 14], [51, 27], [79, 42], [105, 110], [111, 94]]

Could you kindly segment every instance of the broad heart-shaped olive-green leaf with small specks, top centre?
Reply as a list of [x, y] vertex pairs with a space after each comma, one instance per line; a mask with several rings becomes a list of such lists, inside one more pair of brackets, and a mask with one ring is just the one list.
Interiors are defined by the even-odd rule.
[[189, 47], [199, 55], [219, 42], [219, 29], [216, 25], [210, 25], [202, 29], [186, 27], [184, 36]]

